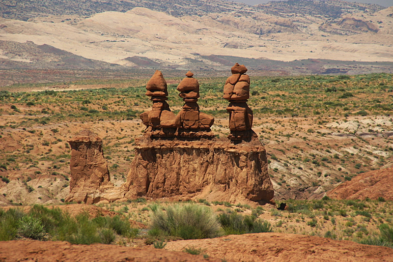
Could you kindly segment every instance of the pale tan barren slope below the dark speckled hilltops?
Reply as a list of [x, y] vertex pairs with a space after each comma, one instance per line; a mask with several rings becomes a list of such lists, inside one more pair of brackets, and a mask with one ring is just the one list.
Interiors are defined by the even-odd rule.
[[[344, 1], [330, 1], [324, 3], [326, 6], [314, 1], [258, 7], [225, 1], [212, 3], [220, 8], [204, 8], [204, 4], [198, 4], [202, 7], [194, 13], [171, 12], [170, 4], [165, 10], [154, 5], [128, 11], [112, 8], [92, 12], [91, 16], [72, 12], [59, 16], [62, 12], [52, 10], [47, 16], [33, 15], [28, 21], [1, 19], [0, 39], [20, 43], [29, 40], [126, 66], [138, 65], [127, 59], [132, 57], [184, 67], [199, 63], [201, 69], [203, 64], [222, 66], [203, 57], [210, 55], [283, 61], [393, 61], [393, 7], [382, 9]], [[179, 6], [184, 5], [179, 2]], [[3, 47], [0, 58], [32, 60], [13, 53]]]

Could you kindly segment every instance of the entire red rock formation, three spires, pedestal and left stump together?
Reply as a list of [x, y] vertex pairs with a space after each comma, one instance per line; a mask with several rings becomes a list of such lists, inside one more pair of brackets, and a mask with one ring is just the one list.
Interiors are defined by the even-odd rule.
[[227, 108], [229, 138], [236, 143], [214, 138], [210, 130], [214, 118], [199, 112], [199, 84], [193, 73], [187, 72], [177, 87], [185, 103], [174, 116], [166, 102], [167, 83], [156, 71], [146, 84], [153, 110], [140, 114], [147, 128], [135, 142], [135, 157], [126, 182], [120, 188], [112, 186], [101, 139], [84, 131], [69, 141], [72, 178], [67, 201], [97, 203], [138, 197], [271, 201], [274, 190], [266, 151], [251, 130], [253, 112], [246, 104], [250, 96], [246, 71], [244, 65], [232, 67], [233, 75], [224, 89], [224, 98], [231, 102]]

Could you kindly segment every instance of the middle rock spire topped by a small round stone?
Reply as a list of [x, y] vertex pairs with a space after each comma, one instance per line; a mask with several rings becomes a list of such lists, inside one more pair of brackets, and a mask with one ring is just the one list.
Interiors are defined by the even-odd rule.
[[210, 127], [214, 117], [199, 112], [199, 83], [193, 78], [193, 73], [187, 72], [186, 77], [179, 83], [177, 90], [185, 102], [183, 109], [177, 114], [175, 125], [177, 136], [181, 138], [213, 138]]

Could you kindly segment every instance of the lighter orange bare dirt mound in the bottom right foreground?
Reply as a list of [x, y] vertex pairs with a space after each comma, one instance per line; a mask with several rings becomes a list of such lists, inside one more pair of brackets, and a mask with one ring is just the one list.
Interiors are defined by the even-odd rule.
[[168, 243], [165, 249], [180, 251], [192, 246], [205, 250], [208, 256], [231, 258], [235, 261], [393, 261], [393, 251], [387, 247], [283, 233], [254, 233], [227, 235], [214, 239], [181, 240]]

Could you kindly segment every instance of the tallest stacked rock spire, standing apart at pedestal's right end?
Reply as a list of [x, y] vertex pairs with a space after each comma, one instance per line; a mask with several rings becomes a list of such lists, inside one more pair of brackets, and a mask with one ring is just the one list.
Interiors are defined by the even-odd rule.
[[231, 68], [232, 75], [225, 81], [224, 98], [229, 101], [226, 111], [229, 113], [228, 138], [232, 141], [250, 141], [256, 134], [253, 126], [253, 111], [247, 105], [250, 98], [250, 77], [247, 68], [236, 63]]

